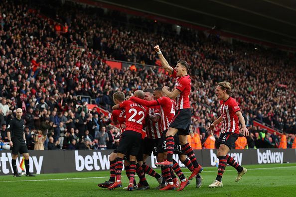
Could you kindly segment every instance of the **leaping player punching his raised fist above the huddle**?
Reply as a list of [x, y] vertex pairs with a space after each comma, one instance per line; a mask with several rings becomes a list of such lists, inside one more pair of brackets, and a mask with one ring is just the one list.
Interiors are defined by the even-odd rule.
[[155, 46], [154, 50], [157, 52], [162, 68], [172, 75], [173, 78], [176, 78], [175, 89], [173, 92], [168, 91], [168, 87], [163, 87], [163, 93], [175, 100], [176, 103], [176, 112], [172, 122], [169, 125], [169, 128], [165, 134], [166, 141], [166, 152], [167, 157], [163, 162], [156, 163], [158, 166], [172, 166], [172, 155], [174, 149], [174, 138], [173, 136], [178, 132], [179, 142], [184, 153], [191, 160], [194, 170], [189, 176], [189, 180], [199, 174], [203, 169], [197, 163], [195, 154], [190, 144], [187, 141], [187, 135], [190, 133], [189, 126], [191, 122], [191, 109], [189, 96], [191, 92], [191, 79], [187, 74], [190, 66], [186, 61], [179, 60], [176, 67], [173, 69], [169, 66], [168, 62], [163, 57], [159, 46]]

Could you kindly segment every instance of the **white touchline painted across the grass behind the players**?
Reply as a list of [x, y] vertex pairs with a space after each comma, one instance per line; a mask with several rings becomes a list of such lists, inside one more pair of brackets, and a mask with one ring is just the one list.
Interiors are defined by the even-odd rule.
[[[250, 168], [249, 170], [270, 170], [270, 169], [281, 169], [281, 168], [296, 168], [296, 166], [285, 166], [285, 167], [272, 167], [272, 168]], [[228, 171], [236, 171], [236, 170], [227, 170]], [[211, 171], [203, 171], [202, 173], [208, 173], [208, 172], [217, 172], [217, 170], [211, 170]], [[184, 174], [189, 174], [191, 172], [184, 172]], [[126, 176], [122, 176], [126, 177]], [[0, 181], [0, 183], [7, 183], [7, 182], [33, 182], [33, 181], [67, 181], [67, 180], [80, 180], [80, 179], [106, 179], [109, 177], [84, 177], [84, 178], [65, 178], [65, 179], [40, 179], [40, 180], [17, 180], [17, 181]], [[17, 178], [16, 178], [17, 179]]]

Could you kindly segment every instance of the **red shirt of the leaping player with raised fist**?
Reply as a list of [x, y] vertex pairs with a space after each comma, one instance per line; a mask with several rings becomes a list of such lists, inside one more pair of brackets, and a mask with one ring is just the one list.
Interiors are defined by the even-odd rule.
[[180, 95], [176, 98], [176, 110], [190, 108], [189, 96], [191, 92], [191, 79], [189, 75], [177, 77], [177, 73], [173, 70], [172, 77], [176, 78], [175, 89], [180, 91]]

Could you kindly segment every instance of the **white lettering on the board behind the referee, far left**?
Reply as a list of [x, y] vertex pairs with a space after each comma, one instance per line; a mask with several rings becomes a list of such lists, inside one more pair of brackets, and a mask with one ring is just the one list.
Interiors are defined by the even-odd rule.
[[[12, 165], [11, 165], [11, 153], [1, 153], [0, 157], [0, 174], [13, 174]], [[20, 159], [16, 158], [16, 167], [17, 171], [21, 172], [21, 169], [19, 167], [19, 164], [22, 160], [22, 157]], [[36, 156], [32, 156], [29, 158], [30, 161], [30, 169], [29, 171], [31, 173], [36, 172], [36, 174], [40, 174], [41, 168], [42, 168], [42, 162], [43, 162], [43, 156], [40, 156], [39, 159]], [[8, 162], [8, 163], [7, 163]], [[34, 171], [34, 167], [36, 171]]]

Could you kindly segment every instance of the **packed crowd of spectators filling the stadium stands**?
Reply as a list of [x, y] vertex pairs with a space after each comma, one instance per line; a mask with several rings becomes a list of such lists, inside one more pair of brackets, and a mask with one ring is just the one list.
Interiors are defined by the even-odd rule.
[[[110, 124], [111, 115], [88, 110], [88, 103], [78, 96], [94, 98], [110, 110], [116, 91], [132, 96], [139, 89], [173, 88], [174, 81], [157, 66], [118, 70], [106, 64], [106, 59], [114, 59], [156, 65], [152, 46], [161, 43], [171, 65], [179, 59], [191, 65], [193, 116], [188, 138], [196, 149], [212, 147], [219, 137], [221, 125], [213, 135], [205, 128], [218, 116], [214, 90], [220, 81], [234, 85], [234, 97], [253, 133], [237, 147], [283, 148], [284, 138], [286, 147], [293, 146], [296, 67], [287, 53], [230, 44], [192, 29], [177, 33], [172, 25], [71, 2], [60, 4], [53, 16], [40, 13], [42, 6], [0, 2], [1, 141], [7, 141], [6, 125], [20, 107], [29, 149], [115, 148], [119, 132]], [[46, 6], [50, 10], [50, 4]], [[56, 31], [54, 21], [67, 26], [66, 32]], [[253, 126], [255, 119], [284, 131], [285, 137], [259, 130]]]

